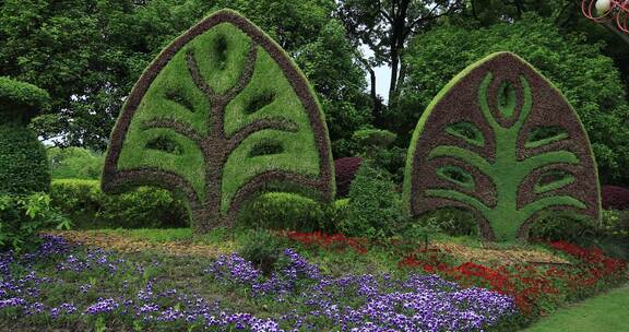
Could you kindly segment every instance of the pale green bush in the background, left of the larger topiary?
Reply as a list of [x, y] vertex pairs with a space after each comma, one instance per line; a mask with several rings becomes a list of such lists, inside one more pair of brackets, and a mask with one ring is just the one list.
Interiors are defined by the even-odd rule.
[[83, 147], [50, 147], [47, 150], [52, 179], [100, 178], [105, 156]]

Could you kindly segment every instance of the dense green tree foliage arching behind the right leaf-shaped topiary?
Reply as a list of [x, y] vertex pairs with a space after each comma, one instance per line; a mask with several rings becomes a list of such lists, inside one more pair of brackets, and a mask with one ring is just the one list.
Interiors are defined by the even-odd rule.
[[626, 181], [629, 167], [629, 106], [618, 70], [602, 56], [600, 44], [562, 35], [554, 22], [526, 14], [514, 23], [471, 29], [443, 25], [416, 37], [406, 50], [408, 78], [401, 106], [389, 115], [403, 120], [396, 131], [411, 132], [432, 97], [463, 68], [495, 51], [526, 59], [553, 81], [579, 114], [593, 144], [602, 181]]

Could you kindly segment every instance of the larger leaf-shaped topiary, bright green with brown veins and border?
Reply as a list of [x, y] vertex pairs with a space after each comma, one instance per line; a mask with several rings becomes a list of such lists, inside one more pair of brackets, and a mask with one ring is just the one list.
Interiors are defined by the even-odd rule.
[[150, 64], [111, 133], [103, 189], [182, 194], [193, 227], [232, 225], [264, 189], [334, 195], [330, 141], [312, 87], [289, 57], [229, 10], [201, 21]]

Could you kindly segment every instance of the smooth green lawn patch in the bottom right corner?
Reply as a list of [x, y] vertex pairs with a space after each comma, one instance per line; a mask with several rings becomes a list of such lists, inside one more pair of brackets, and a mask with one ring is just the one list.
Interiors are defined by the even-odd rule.
[[629, 285], [558, 310], [524, 332], [629, 331]]

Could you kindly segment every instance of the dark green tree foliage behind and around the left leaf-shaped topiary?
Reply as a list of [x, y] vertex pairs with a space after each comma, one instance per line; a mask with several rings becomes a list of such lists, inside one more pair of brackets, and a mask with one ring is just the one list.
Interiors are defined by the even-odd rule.
[[327, 112], [337, 119], [333, 134], [355, 129], [352, 122], [361, 116], [345, 115], [365, 112], [365, 78], [332, 17], [331, 0], [3, 1], [0, 75], [50, 93], [52, 108], [35, 120], [38, 135], [104, 151], [122, 100], [151, 59], [222, 8], [246, 14], [293, 56], [302, 54], [297, 62], [309, 69]]

